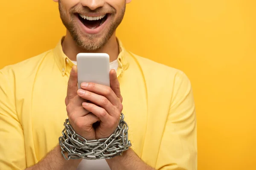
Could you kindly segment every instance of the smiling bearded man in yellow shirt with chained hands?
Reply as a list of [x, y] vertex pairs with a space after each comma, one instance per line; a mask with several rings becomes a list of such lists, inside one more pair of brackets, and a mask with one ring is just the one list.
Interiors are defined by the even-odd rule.
[[[126, 51], [116, 39], [131, 0], [54, 1], [66, 36], [53, 50], [0, 70], [0, 169], [196, 170], [189, 79]], [[109, 54], [111, 87], [82, 83], [77, 89], [80, 52]], [[111, 136], [121, 112], [132, 144], [122, 156], [64, 159], [58, 138], [67, 116], [77, 134], [93, 140]]]

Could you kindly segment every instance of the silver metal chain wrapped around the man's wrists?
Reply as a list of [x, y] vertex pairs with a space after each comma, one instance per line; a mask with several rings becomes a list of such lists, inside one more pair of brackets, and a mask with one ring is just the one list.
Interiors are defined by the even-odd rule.
[[[61, 153], [66, 160], [69, 159], [111, 159], [114, 156], [122, 155], [123, 151], [131, 147], [128, 140], [128, 125], [121, 113], [120, 122], [115, 132], [104, 139], [86, 140], [75, 132], [69, 123], [64, 122], [62, 136], [59, 137]], [[67, 152], [67, 156], [64, 154]]]

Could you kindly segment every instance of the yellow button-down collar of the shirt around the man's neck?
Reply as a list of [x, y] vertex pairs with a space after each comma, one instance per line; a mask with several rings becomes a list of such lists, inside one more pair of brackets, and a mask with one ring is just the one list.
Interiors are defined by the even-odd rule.
[[[62, 72], [62, 76], [65, 76], [66, 73], [69, 74], [71, 68], [73, 67], [74, 63], [64, 54], [62, 50], [61, 42], [64, 39], [64, 37], [59, 40], [56, 47], [53, 49], [55, 62], [58, 65], [58, 68]], [[117, 57], [118, 61], [118, 68], [117, 68], [117, 77], [122, 76], [123, 72], [128, 68], [129, 64], [125, 57], [125, 55], [128, 54], [128, 52], [125, 50], [124, 46], [122, 45], [122, 42], [117, 38], [117, 42], [119, 45], [119, 55]]]

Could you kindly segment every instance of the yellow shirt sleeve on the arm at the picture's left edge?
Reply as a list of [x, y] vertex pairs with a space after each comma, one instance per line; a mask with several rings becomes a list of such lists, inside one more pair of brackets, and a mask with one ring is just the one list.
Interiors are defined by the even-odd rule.
[[23, 129], [15, 109], [15, 81], [12, 75], [12, 71], [0, 70], [0, 169], [24, 170]]

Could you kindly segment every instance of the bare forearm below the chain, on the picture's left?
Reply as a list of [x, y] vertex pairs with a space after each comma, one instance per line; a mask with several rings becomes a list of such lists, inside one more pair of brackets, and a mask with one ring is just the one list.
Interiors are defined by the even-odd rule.
[[26, 170], [76, 170], [81, 159], [65, 160], [61, 154], [61, 148], [57, 145], [44, 159]]

